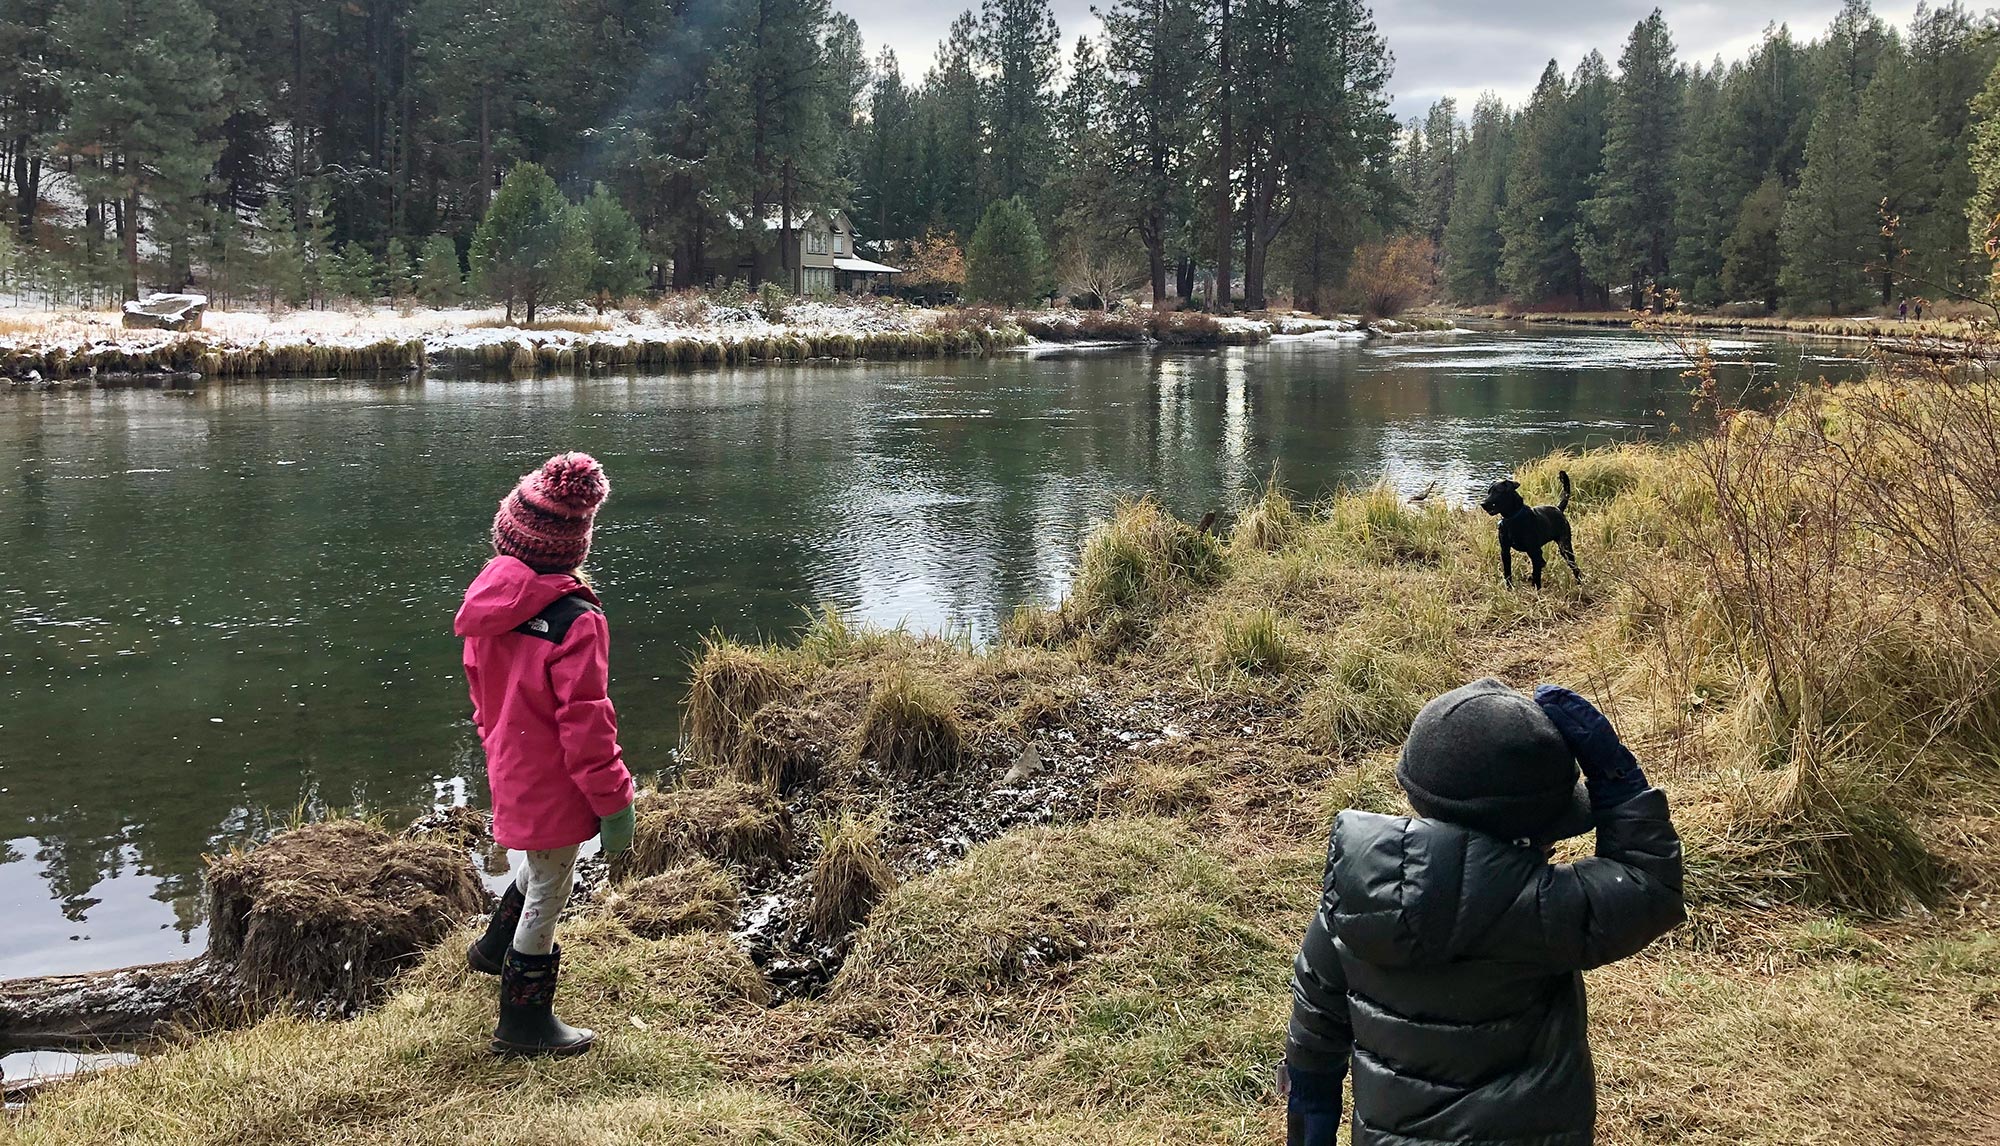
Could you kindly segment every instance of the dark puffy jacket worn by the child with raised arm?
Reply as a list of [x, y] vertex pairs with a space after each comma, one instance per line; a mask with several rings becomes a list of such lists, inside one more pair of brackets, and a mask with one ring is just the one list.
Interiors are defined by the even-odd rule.
[[1352, 1054], [1354, 1146], [1588, 1146], [1580, 972], [1682, 918], [1658, 788], [1600, 810], [1598, 854], [1576, 864], [1456, 824], [1342, 812], [1294, 966], [1286, 1062], [1338, 1088]]

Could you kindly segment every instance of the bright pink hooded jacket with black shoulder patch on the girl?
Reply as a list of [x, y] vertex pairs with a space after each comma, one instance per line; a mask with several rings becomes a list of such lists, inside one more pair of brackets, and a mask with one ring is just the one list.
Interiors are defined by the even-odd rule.
[[610, 628], [596, 606], [574, 576], [506, 556], [486, 562], [458, 606], [452, 628], [466, 638], [472, 722], [504, 848], [582, 844], [600, 816], [632, 802], [604, 692]]

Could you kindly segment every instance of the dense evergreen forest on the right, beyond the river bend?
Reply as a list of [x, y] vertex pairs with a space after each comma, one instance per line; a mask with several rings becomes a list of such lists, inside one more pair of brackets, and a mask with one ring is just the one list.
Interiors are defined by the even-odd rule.
[[1984, 296], [2000, 214], [1992, 16], [1848, 0], [1822, 36], [1680, 62], [1656, 10], [1616, 72], [1550, 60], [1522, 108], [1452, 100], [1396, 160], [1458, 302], [1846, 314]]

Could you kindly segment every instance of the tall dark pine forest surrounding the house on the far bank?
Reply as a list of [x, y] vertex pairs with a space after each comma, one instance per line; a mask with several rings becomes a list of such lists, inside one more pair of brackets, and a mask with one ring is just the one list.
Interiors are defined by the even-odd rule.
[[442, 300], [536, 164], [630, 216], [658, 286], [702, 286], [744, 218], [842, 206], [950, 264], [1010, 204], [1050, 290], [1186, 298], [1220, 264], [1260, 306], [1328, 292], [1398, 220], [1364, 4], [1102, 16], [1066, 52], [1046, 0], [986, 0], [906, 80], [826, 0], [0, 0], [4, 258], [58, 304]]

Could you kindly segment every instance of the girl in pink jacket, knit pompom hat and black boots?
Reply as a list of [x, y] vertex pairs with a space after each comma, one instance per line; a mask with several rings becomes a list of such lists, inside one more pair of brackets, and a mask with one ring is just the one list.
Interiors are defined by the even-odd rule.
[[466, 962], [500, 976], [494, 1054], [580, 1054], [596, 1032], [556, 1018], [556, 918], [578, 844], [632, 846], [632, 774], [606, 696], [610, 630], [582, 580], [590, 524], [610, 494], [590, 454], [558, 454], [494, 514], [486, 562], [454, 628], [466, 638], [472, 720], [486, 746], [494, 840], [524, 852]]

